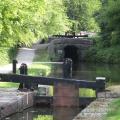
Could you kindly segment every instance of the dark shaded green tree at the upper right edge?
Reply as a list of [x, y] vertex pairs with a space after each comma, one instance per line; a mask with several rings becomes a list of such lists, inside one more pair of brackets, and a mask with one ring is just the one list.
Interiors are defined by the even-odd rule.
[[101, 28], [101, 42], [109, 47], [120, 44], [120, 1], [105, 1], [99, 13], [98, 23]]

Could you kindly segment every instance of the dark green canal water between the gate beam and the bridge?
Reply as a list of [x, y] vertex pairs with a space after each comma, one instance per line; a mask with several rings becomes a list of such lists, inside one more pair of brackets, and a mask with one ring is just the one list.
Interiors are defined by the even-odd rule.
[[[120, 83], [120, 64], [79, 63], [74, 65], [73, 78], [79, 80], [95, 80], [98, 76], [104, 76], [113, 83]], [[62, 66], [53, 67], [53, 77], [62, 77]]]

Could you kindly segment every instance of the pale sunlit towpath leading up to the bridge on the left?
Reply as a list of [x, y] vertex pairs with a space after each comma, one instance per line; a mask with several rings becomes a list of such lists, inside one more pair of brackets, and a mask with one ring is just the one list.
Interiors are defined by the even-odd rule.
[[[49, 44], [33, 44], [32, 48], [19, 48], [16, 60], [18, 61], [17, 68], [20, 67], [21, 63], [26, 63], [27, 65], [32, 64], [35, 57], [35, 50], [37, 49], [47, 49]], [[12, 71], [12, 63], [4, 66], [0, 66], [0, 73], [9, 73]]]

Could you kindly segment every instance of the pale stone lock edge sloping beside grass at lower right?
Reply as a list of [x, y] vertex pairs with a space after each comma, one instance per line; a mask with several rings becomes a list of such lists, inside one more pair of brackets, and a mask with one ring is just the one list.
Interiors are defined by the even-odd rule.
[[120, 86], [111, 86], [105, 92], [98, 93], [97, 99], [83, 109], [73, 120], [105, 120], [112, 108], [113, 100], [120, 98]]

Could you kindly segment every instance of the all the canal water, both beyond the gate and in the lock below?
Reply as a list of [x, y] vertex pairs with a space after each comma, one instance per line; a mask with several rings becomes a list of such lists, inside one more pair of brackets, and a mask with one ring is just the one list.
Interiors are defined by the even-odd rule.
[[[62, 66], [53, 66], [51, 77], [62, 76]], [[96, 77], [106, 77], [107, 84], [120, 83], [120, 65], [87, 64], [74, 66], [73, 78], [80, 80], [95, 80]], [[33, 107], [14, 114], [5, 120], [72, 120], [80, 108], [40, 108]]]

